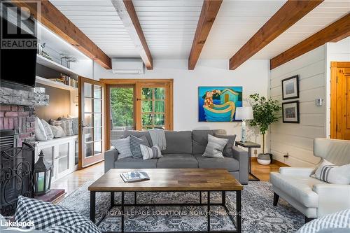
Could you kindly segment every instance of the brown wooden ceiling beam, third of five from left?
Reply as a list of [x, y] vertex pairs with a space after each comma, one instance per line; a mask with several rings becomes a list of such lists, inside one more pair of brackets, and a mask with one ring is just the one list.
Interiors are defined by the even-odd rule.
[[213, 25], [218, 10], [220, 9], [223, 0], [204, 0], [200, 19], [198, 20], [195, 37], [193, 38], [190, 57], [188, 57], [188, 69], [195, 69], [200, 53], [207, 40], [211, 26]]

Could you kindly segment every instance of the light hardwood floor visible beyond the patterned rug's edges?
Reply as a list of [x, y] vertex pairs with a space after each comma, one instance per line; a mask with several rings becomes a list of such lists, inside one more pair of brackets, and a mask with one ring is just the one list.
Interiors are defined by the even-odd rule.
[[[272, 171], [279, 171], [279, 168], [283, 166], [286, 166], [286, 164], [282, 164], [278, 161], [274, 161], [269, 165], [260, 165], [256, 161], [256, 158], [253, 157], [251, 171], [256, 177], [260, 178], [261, 181], [269, 181], [269, 173]], [[99, 162], [91, 167], [74, 171], [72, 174], [64, 176], [64, 178], [52, 183], [51, 188], [64, 188], [64, 190], [66, 190], [66, 197], [87, 181], [95, 181], [103, 174], [104, 162]], [[59, 202], [59, 200], [60, 199], [56, 202]]]

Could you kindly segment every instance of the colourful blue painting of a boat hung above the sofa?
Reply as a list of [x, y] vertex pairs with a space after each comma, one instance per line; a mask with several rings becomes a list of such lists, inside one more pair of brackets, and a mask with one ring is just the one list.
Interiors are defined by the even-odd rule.
[[236, 121], [236, 108], [241, 106], [242, 87], [198, 87], [200, 122]]

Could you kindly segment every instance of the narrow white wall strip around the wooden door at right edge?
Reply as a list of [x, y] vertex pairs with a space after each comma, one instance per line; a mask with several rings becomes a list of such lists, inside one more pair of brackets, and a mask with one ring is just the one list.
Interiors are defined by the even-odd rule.
[[337, 43], [326, 43], [326, 63], [325, 63], [325, 77], [326, 77], [326, 132], [330, 136], [330, 62], [350, 62], [350, 37], [344, 38]]

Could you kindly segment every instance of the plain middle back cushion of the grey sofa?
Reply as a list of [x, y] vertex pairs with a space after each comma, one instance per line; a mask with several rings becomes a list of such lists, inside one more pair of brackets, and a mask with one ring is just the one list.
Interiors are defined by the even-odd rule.
[[192, 132], [190, 131], [165, 131], [167, 148], [162, 154], [191, 154]]

